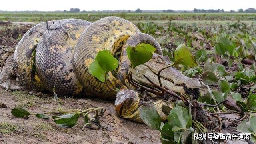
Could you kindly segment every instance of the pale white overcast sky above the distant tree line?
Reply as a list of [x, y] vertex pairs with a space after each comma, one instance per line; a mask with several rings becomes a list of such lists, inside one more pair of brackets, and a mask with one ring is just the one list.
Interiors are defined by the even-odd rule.
[[0, 10], [193, 10], [256, 8], [256, 0], [1, 0]]

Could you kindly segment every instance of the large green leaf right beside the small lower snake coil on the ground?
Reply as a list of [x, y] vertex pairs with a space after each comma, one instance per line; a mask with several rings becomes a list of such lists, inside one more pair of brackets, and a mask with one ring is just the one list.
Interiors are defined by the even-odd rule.
[[144, 104], [140, 107], [140, 118], [150, 128], [160, 130], [161, 118], [153, 104]]

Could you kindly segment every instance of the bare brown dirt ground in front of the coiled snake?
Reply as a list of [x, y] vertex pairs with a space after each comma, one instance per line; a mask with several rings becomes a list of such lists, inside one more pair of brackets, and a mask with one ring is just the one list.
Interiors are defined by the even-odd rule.
[[[98, 98], [59, 98], [62, 108], [66, 110], [87, 109], [103, 106], [104, 115], [100, 118], [102, 126], [107, 128], [92, 130], [86, 128], [80, 118], [73, 128], [61, 128], [56, 126], [52, 119], [43, 120], [36, 116], [28, 119], [12, 116], [11, 110], [18, 106], [26, 108], [30, 112], [46, 112], [46, 108], [58, 108], [50, 95], [35, 95], [24, 91], [5, 91], [0, 89], [0, 144], [12, 143], [64, 143], [64, 144], [148, 144], [160, 143], [160, 133], [148, 128], [145, 124], [139, 124], [116, 116], [114, 102], [100, 100]], [[10, 125], [1, 127], [1, 125]], [[2, 128], [2, 130], [1, 130]], [[8, 132], [6, 132], [8, 131]]]

